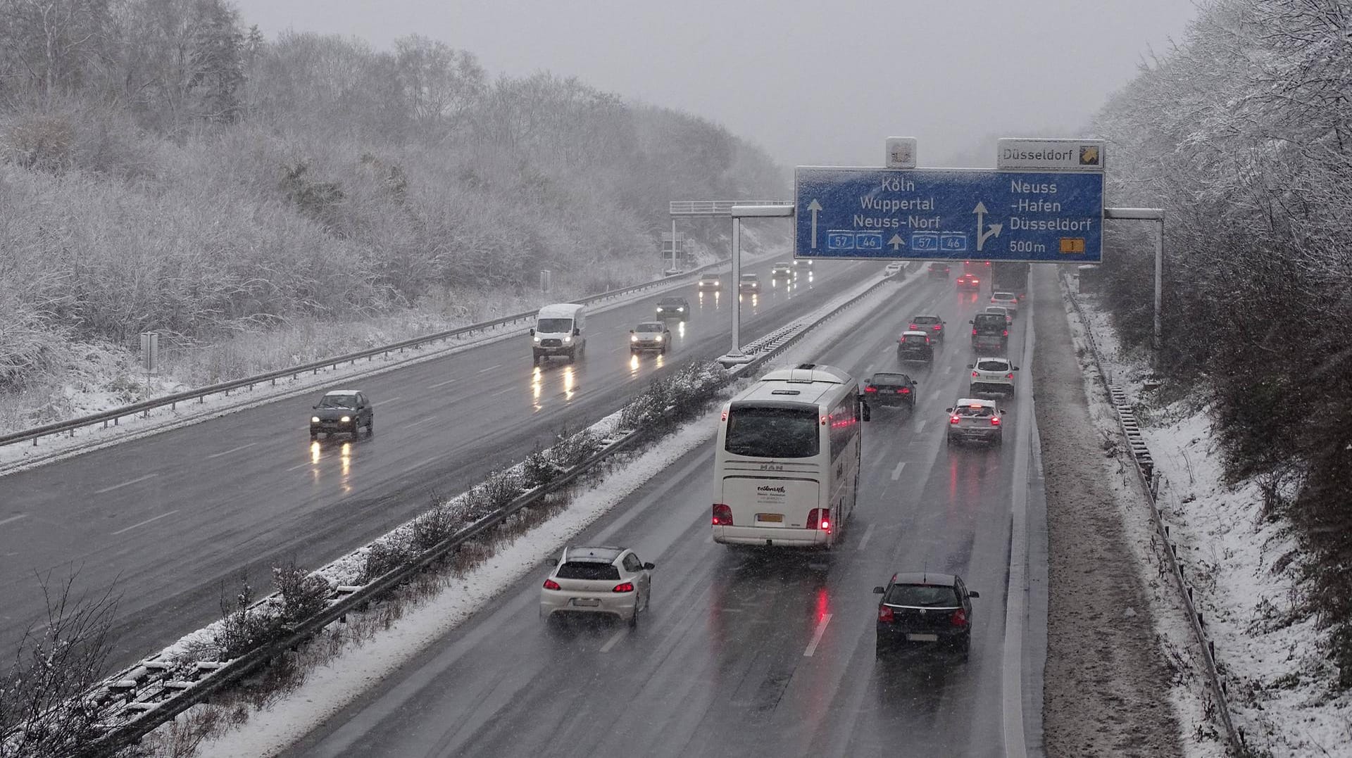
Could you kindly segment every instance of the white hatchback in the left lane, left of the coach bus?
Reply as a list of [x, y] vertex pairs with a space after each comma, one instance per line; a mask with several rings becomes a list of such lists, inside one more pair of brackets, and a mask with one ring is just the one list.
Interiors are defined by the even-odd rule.
[[565, 547], [539, 588], [539, 616], [608, 615], [638, 626], [652, 601], [652, 563], [625, 547]]

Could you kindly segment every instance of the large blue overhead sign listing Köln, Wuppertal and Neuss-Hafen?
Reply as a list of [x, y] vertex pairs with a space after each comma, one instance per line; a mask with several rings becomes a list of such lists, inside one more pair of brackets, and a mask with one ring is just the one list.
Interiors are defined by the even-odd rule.
[[794, 172], [804, 258], [1096, 263], [1103, 174], [982, 169]]

